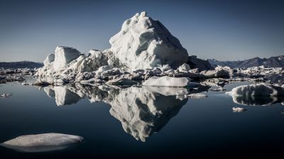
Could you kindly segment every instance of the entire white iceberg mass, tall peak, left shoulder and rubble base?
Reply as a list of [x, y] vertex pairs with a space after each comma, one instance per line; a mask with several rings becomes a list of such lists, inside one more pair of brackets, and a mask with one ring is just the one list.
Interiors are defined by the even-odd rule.
[[103, 51], [92, 49], [88, 54], [58, 46], [35, 74], [38, 84], [94, 84], [109, 80], [112, 80], [109, 84], [125, 84], [126, 81], [136, 84], [154, 76], [197, 79], [226, 74], [222, 70], [200, 72], [211, 69], [209, 62], [196, 56], [188, 57], [178, 38], [171, 35], [160, 21], [148, 17], [146, 12], [127, 19], [109, 43], [111, 48]]

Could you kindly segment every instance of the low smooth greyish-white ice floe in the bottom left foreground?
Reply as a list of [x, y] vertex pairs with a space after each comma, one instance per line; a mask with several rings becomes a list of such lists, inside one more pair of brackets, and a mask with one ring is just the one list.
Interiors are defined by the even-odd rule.
[[83, 140], [84, 138], [81, 136], [63, 133], [41, 133], [37, 135], [18, 136], [0, 145], [20, 152], [38, 153], [62, 150], [72, 143], [80, 143]]

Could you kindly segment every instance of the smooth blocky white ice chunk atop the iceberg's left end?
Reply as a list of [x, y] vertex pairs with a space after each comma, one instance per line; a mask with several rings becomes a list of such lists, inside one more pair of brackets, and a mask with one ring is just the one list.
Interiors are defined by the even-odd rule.
[[55, 60], [54, 60], [54, 67], [60, 68], [75, 60], [77, 57], [80, 56], [80, 52], [75, 48], [69, 48], [65, 46], [58, 46], [55, 49]]

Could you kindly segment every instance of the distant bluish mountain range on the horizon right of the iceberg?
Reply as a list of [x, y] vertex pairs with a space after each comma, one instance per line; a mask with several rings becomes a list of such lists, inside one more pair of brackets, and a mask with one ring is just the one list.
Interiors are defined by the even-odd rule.
[[208, 61], [213, 67], [217, 65], [229, 66], [231, 68], [248, 68], [261, 65], [265, 67], [284, 67], [284, 55], [269, 58], [254, 57], [248, 60], [237, 61], [219, 61], [215, 59], [208, 59]]

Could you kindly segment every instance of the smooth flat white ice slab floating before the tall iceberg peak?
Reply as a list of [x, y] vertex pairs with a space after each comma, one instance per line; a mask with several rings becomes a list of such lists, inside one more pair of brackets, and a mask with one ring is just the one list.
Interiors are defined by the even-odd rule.
[[187, 77], [151, 77], [142, 83], [144, 86], [186, 87], [190, 86], [190, 78]]

